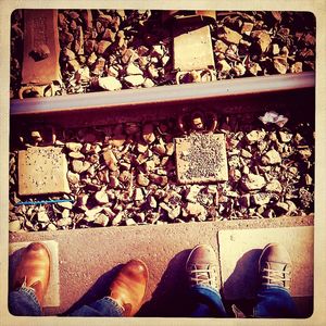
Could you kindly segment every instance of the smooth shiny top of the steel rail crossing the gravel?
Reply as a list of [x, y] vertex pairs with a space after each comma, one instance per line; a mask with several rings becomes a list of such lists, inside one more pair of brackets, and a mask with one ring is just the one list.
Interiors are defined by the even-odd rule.
[[100, 91], [80, 95], [33, 98], [10, 101], [10, 114], [68, 112], [101, 108], [168, 103], [201, 99], [231, 98], [246, 95], [273, 93], [315, 87], [315, 73], [272, 75], [224, 79], [201, 84], [159, 86], [153, 88]]

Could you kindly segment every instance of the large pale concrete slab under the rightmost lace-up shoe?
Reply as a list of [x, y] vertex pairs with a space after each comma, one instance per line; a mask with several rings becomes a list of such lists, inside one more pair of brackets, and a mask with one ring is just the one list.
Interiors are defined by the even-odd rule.
[[229, 229], [218, 231], [224, 296], [228, 300], [254, 298], [258, 260], [265, 244], [284, 244], [292, 260], [293, 297], [313, 296], [313, 226]]

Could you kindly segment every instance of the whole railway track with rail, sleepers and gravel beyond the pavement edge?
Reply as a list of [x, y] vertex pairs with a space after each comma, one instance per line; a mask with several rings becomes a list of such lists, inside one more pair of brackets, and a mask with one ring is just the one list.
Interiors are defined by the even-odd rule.
[[[97, 63], [89, 65], [87, 61], [88, 68], [95, 67], [93, 76], [88, 80], [89, 90], [99, 90], [101, 87], [95, 85], [103, 86], [108, 80], [110, 85], [105, 85], [112, 87], [114, 78], [117, 89], [123, 89], [11, 100], [10, 221], [13, 229], [312, 213], [315, 75], [306, 72], [313, 68], [315, 45], [311, 17], [279, 12], [235, 13], [235, 16], [226, 13], [217, 15], [215, 21], [213, 12], [195, 16], [168, 13], [167, 21], [161, 18], [171, 35], [162, 43], [155, 38], [147, 42], [139, 36], [138, 41], [147, 42], [148, 48], [138, 48], [137, 54], [133, 50], [134, 32], [129, 35], [127, 30], [136, 28], [134, 20], [148, 20], [150, 12], [134, 14], [43, 11], [36, 20], [33, 12], [26, 12], [25, 34], [29, 35], [28, 32], [36, 28], [36, 36], [25, 38], [21, 98], [25, 92], [46, 95], [43, 87], [47, 88], [47, 84], [53, 93], [60, 70], [65, 77], [78, 78], [82, 63], [78, 60], [89, 55], [84, 51], [84, 45], [95, 46], [97, 54], [91, 55], [99, 55]], [[147, 24], [158, 24], [160, 16], [161, 13], [153, 13], [153, 21], [149, 18]], [[271, 36], [259, 18], [265, 18], [266, 26], [271, 25], [274, 30]], [[84, 20], [87, 28], [82, 24]], [[126, 21], [121, 23], [121, 20]], [[306, 20], [304, 33], [293, 34], [300, 20]], [[45, 25], [50, 21], [49, 26]], [[289, 28], [284, 28], [280, 22]], [[67, 23], [75, 32], [67, 32]], [[15, 30], [18, 30], [17, 24], [22, 24], [20, 15]], [[84, 33], [95, 32], [93, 24], [97, 37], [88, 35], [93, 39], [84, 43]], [[115, 25], [110, 29], [105, 24]], [[130, 27], [126, 27], [128, 24]], [[45, 38], [38, 30], [42, 26], [51, 35], [52, 29], [59, 32], [61, 66], [58, 39]], [[83, 32], [83, 28], [86, 29]], [[109, 36], [111, 41], [105, 39]], [[74, 37], [74, 45], [66, 43], [65, 37]], [[201, 58], [200, 40], [203, 39], [208, 53]], [[186, 55], [183, 48], [189, 42], [193, 45], [193, 51], [187, 51]], [[171, 58], [172, 46], [174, 58]], [[299, 52], [296, 47], [300, 48]], [[120, 73], [115, 77], [106, 76], [108, 71], [96, 76], [100, 62], [113, 60], [113, 53], [116, 58], [110, 74], [114, 68]], [[265, 61], [268, 55], [269, 65]], [[166, 76], [179, 71], [172, 77], [174, 82], [177, 85], [165, 85], [171, 83], [165, 80], [164, 84], [158, 77], [164, 86], [153, 87], [155, 83], [162, 84], [154, 78], [156, 82], [153, 79], [151, 87], [139, 88], [141, 85], [147, 87], [148, 74], [154, 73], [152, 65], [141, 66], [146, 58], [158, 61], [158, 70], [162, 70], [160, 65], [164, 63]], [[289, 59], [288, 63], [285, 58], [286, 61]], [[55, 70], [47, 70], [50, 60], [57, 62]], [[256, 68], [263, 70], [264, 76], [231, 78], [256, 74], [252, 70], [253, 62]], [[70, 76], [73, 67], [76, 72]], [[299, 67], [304, 72], [285, 74]], [[42, 79], [42, 73], [37, 73], [42, 70], [47, 71], [50, 84]], [[272, 75], [266, 76], [267, 72]], [[273, 75], [275, 73], [279, 75]], [[138, 85], [135, 78], [141, 79], [142, 84]], [[191, 82], [189, 78], [192, 82], [209, 78], [211, 82], [187, 84]], [[186, 84], [178, 85], [180, 83]], [[68, 87], [73, 85], [68, 84]], [[195, 139], [191, 135], [198, 136], [193, 136]], [[202, 145], [198, 146], [198, 142]], [[42, 149], [45, 147], [50, 149]], [[215, 148], [221, 148], [218, 153]], [[68, 185], [64, 178], [64, 187], [58, 186], [61, 191], [52, 195], [49, 190], [30, 190], [30, 181], [26, 180], [24, 188], [25, 170], [30, 172], [30, 178], [37, 175], [33, 168], [22, 165], [22, 161], [30, 155], [36, 162], [46, 160], [45, 156], [54, 152], [61, 153], [61, 174], [67, 172]], [[212, 159], [213, 152], [215, 159]], [[39, 156], [41, 153], [43, 158]], [[49, 162], [52, 167], [53, 162]], [[184, 171], [181, 165], [191, 167]], [[218, 176], [220, 165], [224, 167]], [[20, 170], [24, 173], [20, 174]], [[43, 167], [39, 166], [39, 170], [43, 171]], [[34, 179], [35, 184], [43, 184], [45, 177]], [[57, 176], [52, 175], [53, 178]], [[67, 203], [62, 204], [62, 200]]]

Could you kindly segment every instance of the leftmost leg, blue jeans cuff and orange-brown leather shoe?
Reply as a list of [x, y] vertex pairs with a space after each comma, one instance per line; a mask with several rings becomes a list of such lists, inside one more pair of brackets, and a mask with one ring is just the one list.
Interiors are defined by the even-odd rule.
[[30, 243], [22, 254], [9, 293], [9, 311], [18, 316], [39, 316], [50, 278], [50, 254], [42, 243]]

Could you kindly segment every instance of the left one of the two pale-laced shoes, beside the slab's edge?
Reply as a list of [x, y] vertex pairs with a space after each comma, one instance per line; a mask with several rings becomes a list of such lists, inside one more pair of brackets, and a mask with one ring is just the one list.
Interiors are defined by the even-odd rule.
[[218, 261], [210, 244], [196, 246], [186, 262], [189, 286], [206, 285], [220, 291]]

